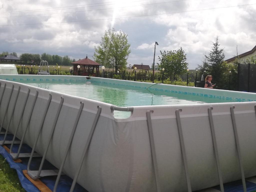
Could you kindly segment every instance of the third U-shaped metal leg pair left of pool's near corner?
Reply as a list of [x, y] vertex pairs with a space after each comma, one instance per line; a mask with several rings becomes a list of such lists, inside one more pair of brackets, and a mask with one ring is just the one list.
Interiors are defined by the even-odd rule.
[[[20, 115], [19, 124], [18, 124], [18, 126], [17, 126], [17, 128], [15, 130], [15, 133], [14, 133], [14, 136], [13, 136], [13, 141], [12, 141], [12, 144], [11, 144], [11, 147], [10, 147], [10, 155], [12, 156], [13, 159], [17, 159], [19, 157], [29, 157], [30, 156], [30, 153], [22, 153], [22, 154], [20, 154], [20, 149], [22, 147], [22, 144], [23, 144], [23, 141], [24, 141], [27, 129], [28, 129], [28, 125], [29, 125], [29, 122], [30, 122], [30, 119], [31, 119], [31, 116], [32, 116], [32, 113], [33, 113], [33, 110], [34, 110], [34, 107], [35, 107], [35, 104], [36, 104], [36, 100], [37, 100], [37, 96], [38, 96], [38, 91], [36, 91], [35, 99], [34, 99], [34, 101], [32, 103], [32, 107], [31, 107], [30, 113], [28, 115], [28, 122], [26, 124], [26, 129], [25, 129], [25, 131], [22, 134], [22, 138], [20, 140], [18, 152], [17, 153], [12, 153], [12, 147], [13, 147], [13, 144], [14, 144], [14, 141], [15, 141], [16, 134], [17, 134], [18, 129], [19, 129], [20, 122], [21, 122], [21, 120], [23, 118], [23, 114], [24, 114], [24, 110], [25, 110], [25, 107], [26, 107], [26, 104], [27, 104], [27, 101], [28, 101], [29, 93], [30, 93], [30, 89], [28, 89], [27, 97], [25, 99], [25, 103], [23, 105], [22, 113]], [[39, 156], [39, 154], [36, 154], [36, 155]]]

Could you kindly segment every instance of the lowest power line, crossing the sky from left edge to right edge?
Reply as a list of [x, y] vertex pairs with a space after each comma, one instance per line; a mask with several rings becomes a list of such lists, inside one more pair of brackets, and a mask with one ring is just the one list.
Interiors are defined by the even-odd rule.
[[187, 13], [187, 12], [196, 12], [196, 11], [204, 11], [204, 10], [241, 7], [241, 6], [248, 6], [248, 5], [256, 5], [256, 3], [246, 4], [246, 5], [234, 5], [234, 6], [227, 6], [227, 7], [216, 7], [216, 8], [208, 8], [208, 9], [197, 9], [197, 10], [170, 12], [170, 13], [159, 13], [159, 14], [151, 14], [151, 15], [138, 15], [138, 16], [116, 17], [116, 18], [105, 18], [105, 19], [90, 19], [90, 20], [80, 20], [80, 21], [64, 21], [64, 22], [53, 22], [53, 23], [29, 23], [29, 24], [16, 24], [16, 25], [0, 25], [0, 27], [4, 27], [4, 26], [22, 26], [22, 25], [46, 25], [46, 24], [58, 24], [58, 23], [75, 23], [75, 22], [87, 22], [87, 21], [99, 21], [99, 20], [111, 20], [111, 19], [125, 19], [125, 18], [146, 17], [146, 16], [155, 16], [155, 15], [166, 15], [166, 14], [175, 14], [175, 13]]

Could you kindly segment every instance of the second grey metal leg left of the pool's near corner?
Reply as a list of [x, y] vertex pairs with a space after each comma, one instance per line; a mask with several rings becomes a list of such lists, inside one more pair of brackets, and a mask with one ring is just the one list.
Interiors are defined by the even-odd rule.
[[80, 108], [79, 108], [79, 111], [78, 111], [78, 114], [77, 114], [77, 117], [76, 117], [76, 121], [74, 122], [74, 126], [73, 126], [73, 129], [71, 131], [71, 134], [70, 134], [70, 137], [69, 137], [69, 140], [68, 140], [68, 145], [67, 145], [67, 148], [66, 148], [66, 151], [65, 151], [65, 154], [64, 154], [64, 158], [61, 162], [60, 169], [59, 169], [59, 172], [58, 172], [58, 176], [57, 176], [57, 179], [56, 179], [56, 182], [55, 182], [55, 185], [54, 185], [54, 189], [53, 189], [54, 192], [57, 189], [57, 186], [58, 186], [58, 183], [59, 183], [59, 180], [60, 180], [60, 175], [62, 174], [62, 169], [64, 167], [64, 164], [65, 164], [65, 161], [66, 161], [66, 158], [67, 158], [67, 155], [68, 155], [68, 152], [69, 152], [74, 134], [76, 132], [77, 124], [78, 124], [78, 121], [80, 119], [82, 110], [83, 110], [83, 102], [81, 102], [81, 104], [80, 104]]

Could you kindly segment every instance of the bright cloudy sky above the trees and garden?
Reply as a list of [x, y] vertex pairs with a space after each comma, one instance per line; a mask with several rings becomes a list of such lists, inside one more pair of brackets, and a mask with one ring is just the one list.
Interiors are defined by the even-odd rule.
[[[219, 37], [225, 59], [256, 45], [256, 0], [0, 0], [0, 52], [93, 59], [105, 30], [128, 35], [128, 63], [152, 65], [160, 50], [202, 63]], [[237, 48], [238, 47], [238, 48]]]

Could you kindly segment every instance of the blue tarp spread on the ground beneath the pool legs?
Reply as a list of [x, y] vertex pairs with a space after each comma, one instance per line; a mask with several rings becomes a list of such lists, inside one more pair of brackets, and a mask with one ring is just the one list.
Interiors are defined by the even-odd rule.
[[[0, 134], [0, 140], [3, 140], [4, 135]], [[12, 140], [13, 135], [8, 134], [6, 140]], [[10, 148], [10, 144], [6, 145], [8, 148]], [[14, 144], [13, 145], [13, 150], [12, 152], [16, 153], [18, 151], [19, 144]], [[20, 150], [21, 153], [30, 153], [31, 152], [31, 147], [29, 147], [26, 144], [22, 145], [22, 148]], [[6, 161], [9, 163], [11, 168], [16, 169], [20, 183], [22, 184], [22, 187], [28, 191], [28, 192], [34, 192], [39, 190], [32, 184], [23, 174], [22, 170], [27, 170], [27, 164], [29, 158], [21, 158], [22, 162], [21, 163], [15, 163], [7, 151], [0, 146], [0, 154], [6, 159]], [[31, 170], [38, 170], [39, 165], [41, 162], [41, 157], [33, 157], [33, 161], [31, 162], [30, 169]], [[44, 166], [42, 170], [45, 169], [57, 169], [54, 167], [51, 163], [49, 163], [47, 160], [44, 162]], [[40, 180], [51, 190], [53, 190], [55, 181], [56, 181], [57, 176], [46, 176], [46, 177], [41, 177]], [[62, 175], [60, 177], [60, 181], [58, 184], [57, 192], [69, 192], [70, 187], [72, 185], [73, 180], [68, 177], [67, 175]], [[247, 187], [247, 192], [252, 192], [256, 191], [256, 184], [252, 182], [246, 181], [246, 187]], [[219, 186], [213, 187], [217, 190], [220, 190]], [[242, 186], [242, 181], [234, 181], [230, 183], [224, 184], [224, 189], [225, 192], [243, 192], [243, 186]], [[80, 185], [76, 184], [76, 187], [74, 188], [74, 192], [88, 192], [86, 189], [81, 187]]]

